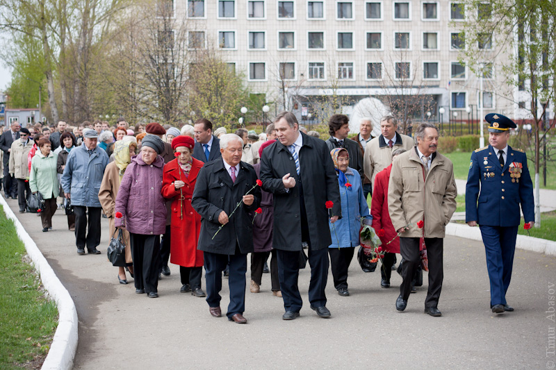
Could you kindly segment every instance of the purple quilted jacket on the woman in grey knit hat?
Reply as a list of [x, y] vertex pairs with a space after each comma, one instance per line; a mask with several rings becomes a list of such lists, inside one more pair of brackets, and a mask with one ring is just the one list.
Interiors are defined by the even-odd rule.
[[116, 196], [115, 226], [133, 234], [161, 235], [166, 229], [166, 206], [162, 196], [164, 160], [158, 155], [147, 165], [140, 155], [131, 157]]

